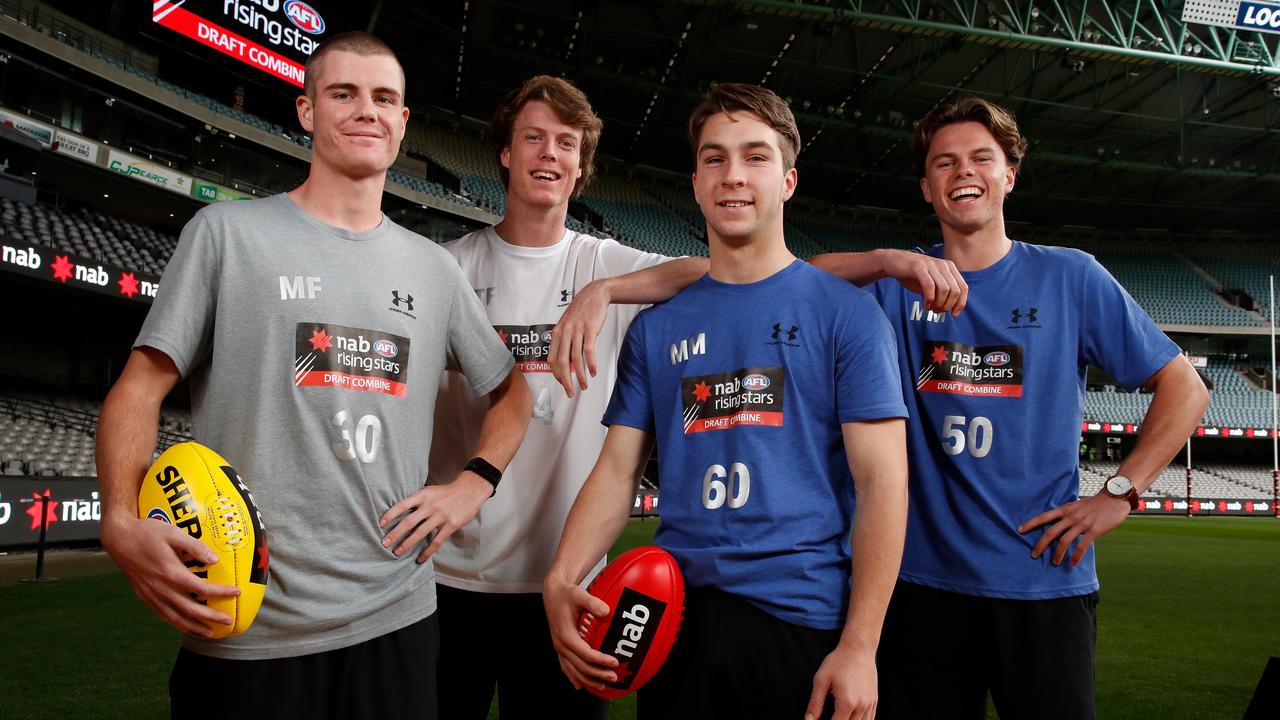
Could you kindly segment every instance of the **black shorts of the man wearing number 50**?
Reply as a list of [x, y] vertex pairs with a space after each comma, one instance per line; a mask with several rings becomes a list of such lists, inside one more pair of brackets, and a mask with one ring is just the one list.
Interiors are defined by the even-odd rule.
[[1098, 593], [1002, 600], [897, 582], [877, 666], [881, 720], [1088, 720]]

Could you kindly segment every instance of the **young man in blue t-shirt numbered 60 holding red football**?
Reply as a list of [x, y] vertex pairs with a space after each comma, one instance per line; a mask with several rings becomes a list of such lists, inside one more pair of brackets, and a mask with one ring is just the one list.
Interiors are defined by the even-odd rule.
[[906, 519], [892, 334], [869, 295], [787, 251], [800, 137], [777, 95], [721, 85], [689, 137], [710, 273], [627, 332], [604, 448], [544, 585], [561, 666], [575, 685], [630, 671], [577, 635], [580, 611], [608, 611], [579, 583], [657, 437], [655, 542], [687, 610], [640, 716], [869, 717]]

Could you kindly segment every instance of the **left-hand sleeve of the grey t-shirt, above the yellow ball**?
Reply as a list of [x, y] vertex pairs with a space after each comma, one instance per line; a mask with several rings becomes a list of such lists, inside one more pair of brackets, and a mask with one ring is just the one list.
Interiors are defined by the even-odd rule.
[[205, 213], [182, 228], [160, 291], [133, 341], [133, 347], [154, 347], [168, 355], [184, 378], [212, 347], [221, 275], [219, 240]]

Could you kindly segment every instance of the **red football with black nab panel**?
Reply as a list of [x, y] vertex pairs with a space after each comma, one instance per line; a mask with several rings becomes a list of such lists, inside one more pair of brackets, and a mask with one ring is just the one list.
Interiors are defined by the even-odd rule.
[[609, 606], [609, 614], [584, 612], [577, 633], [618, 660], [617, 682], [588, 691], [617, 700], [640, 689], [667, 661], [685, 618], [685, 578], [666, 550], [644, 546], [617, 556], [586, 589]]

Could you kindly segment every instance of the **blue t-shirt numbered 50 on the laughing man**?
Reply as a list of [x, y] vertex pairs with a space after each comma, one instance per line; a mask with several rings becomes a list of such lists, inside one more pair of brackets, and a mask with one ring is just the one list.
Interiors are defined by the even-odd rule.
[[901, 578], [1011, 600], [1093, 592], [1092, 547], [1078, 566], [1055, 568], [1052, 552], [1030, 557], [1042, 530], [1018, 525], [1078, 497], [1087, 366], [1132, 389], [1179, 348], [1079, 250], [1014, 242], [963, 274], [969, 304], [957, 318], [925, 311], [896, 281], [873, 287], [911, 407]]

